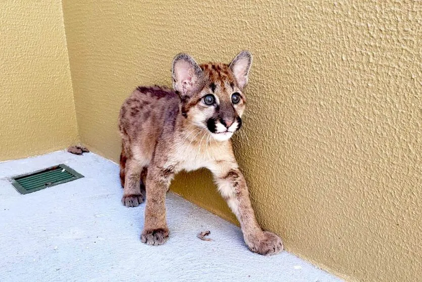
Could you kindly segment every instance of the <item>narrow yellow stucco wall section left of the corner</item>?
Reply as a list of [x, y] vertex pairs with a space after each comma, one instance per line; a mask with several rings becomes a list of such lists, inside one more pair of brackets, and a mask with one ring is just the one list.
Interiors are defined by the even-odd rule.
[[0, 5], [0, 160], [77, 140], [61, 1]]

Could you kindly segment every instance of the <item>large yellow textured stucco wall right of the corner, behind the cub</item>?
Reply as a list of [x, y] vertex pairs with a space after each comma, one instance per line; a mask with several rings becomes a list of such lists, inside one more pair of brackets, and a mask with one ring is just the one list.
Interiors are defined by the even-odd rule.
[[[420, 277], [420, 1], [65, 0], [63, 8], [79, 133], [90, 148], [118, 158], [122, 101], [137, 85], [170, 85], [176, 53], [229, 62], [249, 49], [249, 140], [235, 145], [262, 226], [348, 280]], [[208, 173], [189, 176], [172, 189], [233, 219]]]

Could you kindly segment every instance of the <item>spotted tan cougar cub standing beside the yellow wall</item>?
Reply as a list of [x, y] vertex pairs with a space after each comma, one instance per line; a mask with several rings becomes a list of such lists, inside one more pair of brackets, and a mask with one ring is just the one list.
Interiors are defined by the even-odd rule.
[[122, 203], [147, 204], [143, 243], [168, 240], [165, 197], [173, 176], [181, 170], [208, 168], [231, 211], [237, 216], [252, 252], [272, 255], [282, 240], [258, 225], [248, 187], [233, 154], [230, 137], [242, 126], [243, 92], [252, 64], [248, 51], [230, 64], [199, 65], [187, 54], [172, 64], [173, 88], [138, 87], [120, 110], [122, 137], [120, 179]]

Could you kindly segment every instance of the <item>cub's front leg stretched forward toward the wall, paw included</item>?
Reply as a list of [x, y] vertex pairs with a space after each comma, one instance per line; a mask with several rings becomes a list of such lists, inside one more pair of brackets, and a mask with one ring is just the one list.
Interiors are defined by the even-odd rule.
[[283, 251], [282, 239], [274, 233], [262, 231], [255, 218], [245, 178], [235, 162], [219, 162], [211, 168], [218, 190], [231, 211], [238, 218], [248, 248], [261, 255]]

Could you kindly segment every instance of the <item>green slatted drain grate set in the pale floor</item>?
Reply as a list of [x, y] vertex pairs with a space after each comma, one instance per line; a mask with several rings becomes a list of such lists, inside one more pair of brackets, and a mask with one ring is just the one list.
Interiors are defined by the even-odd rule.
[[11, 181], [19, 193], [28, 194], [82, 177], [83, 175], [60, 164], [48, 169], [12, 177]]

